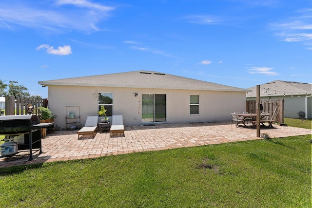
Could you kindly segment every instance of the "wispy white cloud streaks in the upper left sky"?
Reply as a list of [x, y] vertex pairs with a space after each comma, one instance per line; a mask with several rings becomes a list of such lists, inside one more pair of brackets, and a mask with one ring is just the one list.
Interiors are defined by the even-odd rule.
[[24, 0], [0, 1], [0, 27], [14, 30], [23, 26], [55, 33], [92, 32], [101, 30], [97, 23], [109, 17], [114, 9], [87, 0], [49, 0], [31, 6]]

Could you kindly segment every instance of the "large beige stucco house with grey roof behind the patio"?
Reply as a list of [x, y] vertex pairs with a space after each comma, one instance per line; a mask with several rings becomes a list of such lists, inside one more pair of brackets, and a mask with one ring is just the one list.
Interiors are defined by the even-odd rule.
[[[123, 115], [125, 125], [231, 120], [245, 111], [248, 90], [159, 72], [134, 71], [39, 81], [48, 86], [49, 109], [55, 124], [66, 128], [69, 113], [97, 115], [104, 105], [107, 116]], [[74, 119], [73, 119], [74, 120]], [[68, 127], [67, 127], [68, 128]]]

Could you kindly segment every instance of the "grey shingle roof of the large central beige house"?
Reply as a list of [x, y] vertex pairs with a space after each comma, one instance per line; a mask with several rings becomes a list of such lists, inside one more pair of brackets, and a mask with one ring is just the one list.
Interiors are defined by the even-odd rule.
[[83, 76], [39, 81], [38, 83], [44, 86], [67, 85], [249, 92], [248, 90], [242, 88], [151, 71], [134, 71], [97, 76]]

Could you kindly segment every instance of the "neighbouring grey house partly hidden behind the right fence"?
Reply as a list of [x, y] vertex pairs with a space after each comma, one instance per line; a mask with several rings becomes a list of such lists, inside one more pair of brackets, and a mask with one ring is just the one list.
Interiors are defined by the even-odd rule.
[[[256, 86], [248, 88], [247, 100], [256, 98]], [[284, 117], [298, 118], [304, 112], [305, 118], [312, 118], [312, 84], [274, 80], [260, 85], [261, 99], [284, 99]]]

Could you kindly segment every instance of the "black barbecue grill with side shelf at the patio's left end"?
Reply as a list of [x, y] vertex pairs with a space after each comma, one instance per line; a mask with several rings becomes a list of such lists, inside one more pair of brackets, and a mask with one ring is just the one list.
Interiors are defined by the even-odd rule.
[[41, 129], [54, 128], [54, 123], [40, 123], [37, 115], [5, 115], [0, 116], [0, 134], [18, 136], [24, 134], [24, 143], [19, 144], [19, 151], [29, 150], [29, 160], [32, 160], [32, 150], [41, 148]]

